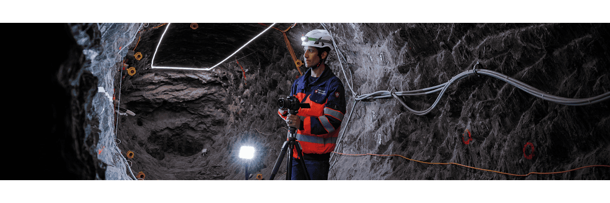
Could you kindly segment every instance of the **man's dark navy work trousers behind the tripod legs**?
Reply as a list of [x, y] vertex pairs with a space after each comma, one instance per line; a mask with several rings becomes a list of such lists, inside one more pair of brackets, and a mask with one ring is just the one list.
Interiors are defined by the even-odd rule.
[[[292, 180], [305, 180], [304, 171], [301, 164], [294, 157], [292, 158]], [[305, 160], [307, 172], [312, 180], [328, 180], [328, 170], [331, 165], [327, 160]]]

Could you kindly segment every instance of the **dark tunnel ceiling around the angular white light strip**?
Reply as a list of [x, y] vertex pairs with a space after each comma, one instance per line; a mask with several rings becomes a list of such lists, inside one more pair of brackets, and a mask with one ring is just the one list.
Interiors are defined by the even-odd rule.
[[[277, 25], [282, 26], [282, 24]], [[148, 25], [151, 26], [157, 24]], [[191, 23], [172, 23], [159, 45], [155, 65], [209, 68], [226, 59], [265, 29], [267, 26], [258, 23], [198, 23], [196, 29], [192, 28]], [[154, 32], [148, 33], [145, 35], [146, 40], [138, 46], [148, 46], [148, 49], [154, 50], [163, 31], [165, 27], [159, 27]], [[258, 50], [273, 48], [281, 38], [282, 34], [276, 30], [268, 30], [229, 61]]]

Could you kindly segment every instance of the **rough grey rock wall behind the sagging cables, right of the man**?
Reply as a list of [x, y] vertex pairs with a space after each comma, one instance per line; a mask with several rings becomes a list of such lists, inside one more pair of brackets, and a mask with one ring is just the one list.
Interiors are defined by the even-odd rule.
[[[485, 69], [553, 95], [589, 98], [610, 89], [608, 28], [608, 24], [333, 24], [330, 29], [336, 32], [347, 62], [354, 64], [359, 94], [432, 87], [479, 62]], [[386, 62], [375, 58], [379, 52], [389, 56]], [[373, 62], [367, 54], [373, 55]], [[423, 110], [436, 96], [409, 96], [404, 101]], [[608, 101], [559, 105], [481, 76], [454, 84], [425, 116], [406, 112], [394, 99], [356, 105], [337, 152], [400, 154], [514, 174], [610, 163]], [[468, 144], [462, 142], [465, 130], [472, 134]], [[531, 160], [523, 153], [528, 142], [535, 147]], [[608, 168], [589, 168], [515, 177], [398, 157], [334, 156], [333, 162], [331, 178], [348, 180], [608, 179], [610, 175]]]

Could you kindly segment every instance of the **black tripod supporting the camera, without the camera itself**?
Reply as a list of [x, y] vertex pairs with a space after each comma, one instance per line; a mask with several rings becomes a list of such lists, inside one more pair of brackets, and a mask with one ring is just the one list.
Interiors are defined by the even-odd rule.
[[[292, 115], [296, 115], [298, 113], [298, 110], [289, 110], [289, 113]], [[282, 144], [282, 151], [279, 152], [278, 160], [275, 161], [275, 166], [273, 166], [273, 171], [271, 171], [271, 177], [269, 177], [269, 180], [273, 180], [275, 178], [275, 174], [278, 173], [279, 165], [282, 164], [282, 160], [284, 160], [284, 155], [286, 154], [286, 151], [288, 151], [288, 158], [287, 158], [288, 163], [286, 164], [286, 180], [291, 179], [291, 177], [292, 177], [292, 149], [296, 149], [296, 153], [300, 157], [297, 160], [300, 163], [300, 165], [303, 167], [303, 171], [305, 173], [305, 179], [311, 180], [309, 178], [309, 173], [307, 173], [307, 167], [305, 167], [305, 161], [303, 160], [303, 150], [301, 148], [301, 144], [299, 144], [299, 142], [296, 141], [295, 135], [296, 135], [296, 128], [290, 127], [289, 134], [288, 134], [288, 140], [284, 141], [284, 144]]]

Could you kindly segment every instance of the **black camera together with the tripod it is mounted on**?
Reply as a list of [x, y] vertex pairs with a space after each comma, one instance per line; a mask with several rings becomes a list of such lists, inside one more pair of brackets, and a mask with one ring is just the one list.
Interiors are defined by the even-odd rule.
[[[301, 104], [295, 96], [289, 96], [287, 98], [279, 98], [278, 99], [278, 107], [282, 110], [288, 110], [288, 113], [292, 115], [296, 115], [299, 113], [299, 109], [309, 109], [309, 104]], [[282, 144], [282, 151], [279, 152], [278, 160], [275, 161], [275, 166], [273, 166], [273, 171], [271, 171], [271, 177], [269, 180], [273, 180], [275, 178], [275, 174], [278, 173], [279, 165], [282, 165], [282, 160], [284, 160], [284, 155], [286, 151], [288, 151], [288, 163], [286, 164], [286, 180], [290, 180], [292, 178], [292, 153], [293, 149], [296, 149], [296, 153], [298, 154], [297, 160], [300, 163], [301, 167], [303, 167], [303, 171], [305, 173], [305, 179], [311, 180], [309, 178], [309, 173], [307, 172], [307, 167], [305, 167], [305, 161], [303, 160], [303, 149], [301, 148], [301, 144], [296, 141], [296, 127], [289, 127], [288, 140], [284, 141]]]

